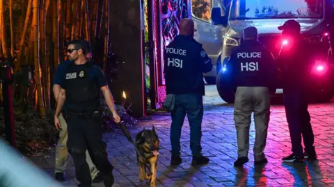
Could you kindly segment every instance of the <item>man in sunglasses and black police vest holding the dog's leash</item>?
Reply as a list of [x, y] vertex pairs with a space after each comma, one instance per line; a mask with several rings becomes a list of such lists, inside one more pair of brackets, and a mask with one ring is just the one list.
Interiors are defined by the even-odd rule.
[[104, 175], [104, 186], [111, 187], [114, 181], [113, 166], [107, 157], [106, 143], [102, 141], [100, 91], [116, 123], [120, 122], [120, 116], [102, 70], [93, 62], [86, 61], [87, 53], [87, 42], [74, 40], [67, 44], [67, 56], [74, 63], [67, 66], [63, 77], [54, 123], [58, 130], [61, 129], [59, 116], [66, 100], [67, 149], [74, 160], [79, 186], [91, 186], [92, 183], [86, 162], [85, 152], [88, 150], [93, 163]]

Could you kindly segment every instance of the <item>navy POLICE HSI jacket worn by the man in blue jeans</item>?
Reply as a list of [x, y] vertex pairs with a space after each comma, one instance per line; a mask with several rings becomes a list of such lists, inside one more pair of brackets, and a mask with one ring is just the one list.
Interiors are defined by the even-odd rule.
[[205, 95], [203, 73], [212, 70], [211, 59], [193, 37], [178, 35], [164, 51], [166, 94]]

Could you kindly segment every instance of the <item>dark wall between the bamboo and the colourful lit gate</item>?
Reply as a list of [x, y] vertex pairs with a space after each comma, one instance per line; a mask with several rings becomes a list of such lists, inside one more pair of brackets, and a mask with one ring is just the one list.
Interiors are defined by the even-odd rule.
[[110, 0], [110, 42], [114, 53], [125, 61], [118, 79], [109, 86], [117, 101], [122, 100], [122, 91], [127, 94], [127, 103], [132, 103], [133, 116], [144, 116], [143, 106], [143, 27], [141, 1]]

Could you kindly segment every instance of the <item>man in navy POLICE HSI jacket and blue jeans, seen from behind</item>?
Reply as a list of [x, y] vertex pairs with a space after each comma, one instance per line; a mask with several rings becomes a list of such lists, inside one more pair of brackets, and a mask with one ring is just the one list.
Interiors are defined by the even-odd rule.
[[193, 154], [191, 165], [209, 163], [209, 159], [201, 154], [200, 139], [203, 117], [202, 96], [205, 95], [203, 73], [212, 70], [212, 62], [203, 50], [202, 44], [193, 39], [194, 32], [193, 21], [182, 19], [180, 35], [177, 35], [164, 51], [166, 94], [174, 97], [174, 107], [171, 111], [172, 125], [170, 127], [172, 165], [182, 163], [180, 138], [186, 114], [191, 131], [190, 148]]

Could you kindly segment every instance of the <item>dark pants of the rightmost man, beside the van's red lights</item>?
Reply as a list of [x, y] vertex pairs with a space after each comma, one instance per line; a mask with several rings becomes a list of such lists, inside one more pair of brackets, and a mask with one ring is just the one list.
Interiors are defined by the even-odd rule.
[[311, 126], [311, 117], [308, 113], [308, 100], [305, 93], [284, 94], [285, 114], [289, 125], [292, 152], [303, 157], [301, 136], [305, 145], [305, 152], [313, 152], [315, 136]]

